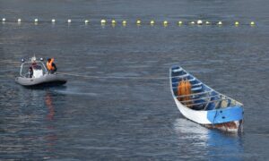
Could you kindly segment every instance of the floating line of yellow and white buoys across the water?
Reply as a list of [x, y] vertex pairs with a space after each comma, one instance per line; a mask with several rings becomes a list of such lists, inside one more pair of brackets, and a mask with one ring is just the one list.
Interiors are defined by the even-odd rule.
[[[65, 21], [61, 20], [61, 21], [56, 21], [55, 18], [51, 19], [51, 20], [47, 20], [47, 21], [39, 21], [38, 18], [35, 18], [31, 21], [29, 20], [23, 20], [21, 18], [17, 19], [17, 20], [9, 20], [9, 19], [6, 19], [6, 18], [2, 18], [0, 19], [0, 21], [2, 21], [2, 23], [8, 23], [8, 22], [12, 22], [12, 23], [33, 23], [33, 24], [39, 24], [39, 23], [52, 23], [52, 24], [56, 24], [56, 23], [66, 23], [66, 24], [82, 24], [84, 23], [85, 25], [87, 24], [93, 24], [93, 23], [96, 23], [96, 19], [94, 19], [94, 21], [91, 21], [89, 19], [84, 19], [84, 20], [75, 20], [73, 21], [72, 19], [67, 19]], [[126, 26], [127, 24], [127, 21], [126, 20], [122, 20], [122, 21], [117, 21], [115, 19], [110, 19], [110, 21], [106, 20], [106, 19], [101, 19], [100, 20], [100, 25], [107, 25], [108, 23], [113, 25], [113, 26], [116, 26], [117, 24], [122, 24], [123, 26]], [[154, 25], [162, 25], [162, 26], [169, 26], [169, 25], [172, 25], [172, 24], [178, 24], [178, 26], [182, 26], [182, 25], [198, 25], [198, 26], [201, 26], [201, 25], [204, 25], [204, 26], [208, 26], [208, 25], [216, 25], [216, 26], [222, 26], [222, 25], [232, 25], [232, 26], [239, 26], [239, 25], [249, 25], [249, 26], [255, 26], [256, 23], [255, 21], [249, 21], [247, 23], [240, 23], [239, 21], [234, 21], [234, 22], [223, 22], [223, 21], [203, 21], [203, 20], [197, 20], [197, 21], [167, 21], [167, 20], [164, 20], [164, 21], [160, 21], [159, 23], [157, 23], [156, 21], [154, 20], [151, 20], [151, 21], [142, 21], [141, 19], [137, 19], [136, 21], [131, 21], [131, 22], [128, 22], [128, 24], [136, 24], [137, 26], [141, 26], [141, 25], [151, 25], [151, 26], [154, 26]]]

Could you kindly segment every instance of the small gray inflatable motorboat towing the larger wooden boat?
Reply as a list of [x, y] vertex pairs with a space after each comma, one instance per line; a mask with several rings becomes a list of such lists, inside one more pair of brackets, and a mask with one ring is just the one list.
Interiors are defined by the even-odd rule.
[[43, 62], [37, 61], [34, 56], [30, 62], [24, 62], [22, 59], [20, 76], [15, 81], [25, 87], [36, 87], [63, 85], [67, 80], [62, 74], [48, 73]]

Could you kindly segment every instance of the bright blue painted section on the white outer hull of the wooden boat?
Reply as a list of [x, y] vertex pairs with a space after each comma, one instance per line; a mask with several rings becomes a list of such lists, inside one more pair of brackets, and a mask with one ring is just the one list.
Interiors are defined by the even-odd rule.
[[207, 119], [213, 124], [239, 121], [243, 119], [243, 108], [241, 106], [233, 106], [210, 110], [207, 112]]

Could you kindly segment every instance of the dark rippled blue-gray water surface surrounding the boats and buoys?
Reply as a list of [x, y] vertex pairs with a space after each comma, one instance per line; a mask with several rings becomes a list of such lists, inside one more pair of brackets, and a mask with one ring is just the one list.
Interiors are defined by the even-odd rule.
[[[0, 22], [0, 159], [268, 159], [268, 7], [265, 0], [0, 0], [0, 18], [9, 20]], [[151, 19], [157, 24], [144, 24]], [[176, 25], [197, 19], [223, 25]], [[21, 58], [34, 54], [55, 57], [68, 83], [15, 84]], [[169, 90], [173, 64], [242, 102], [244, 133], [186, 120]]]

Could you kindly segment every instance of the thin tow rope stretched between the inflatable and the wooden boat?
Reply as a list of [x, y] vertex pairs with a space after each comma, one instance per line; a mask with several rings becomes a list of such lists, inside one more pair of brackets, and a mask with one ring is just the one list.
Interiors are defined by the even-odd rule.
[[90, 75], [81, 75], [74, 73], [66, 73], [66, 72], [57, 72], [63, 75], [69, 75], [74, 77], [82, 77], [85, 79], [123, 79], [123, 80], [169, 80], [167, 77], [119, 77], [119, 76], [90, 76]]

